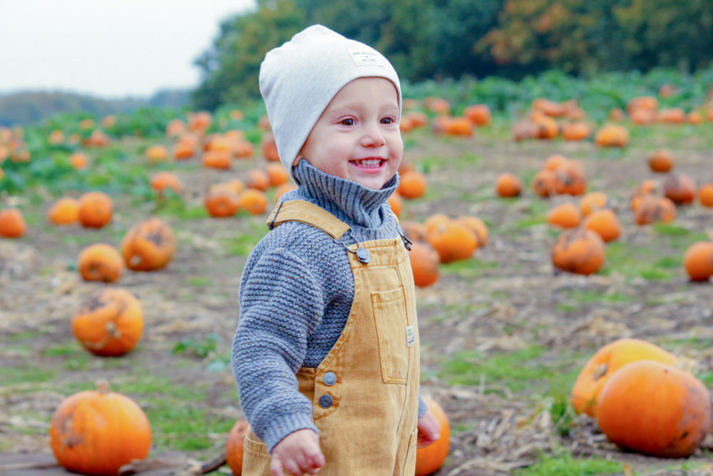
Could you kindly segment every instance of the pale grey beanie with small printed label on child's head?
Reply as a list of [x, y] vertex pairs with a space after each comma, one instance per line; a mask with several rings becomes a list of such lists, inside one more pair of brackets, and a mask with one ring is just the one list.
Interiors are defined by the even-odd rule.
[[292, 175], [292, 162], [329, 101], [350, 81], [376, 76], [394, 83], [399, 76], [379, 51], [312, 25], [265, 55], [260, 65], [260, 93], [275, 134], [277, 153]]

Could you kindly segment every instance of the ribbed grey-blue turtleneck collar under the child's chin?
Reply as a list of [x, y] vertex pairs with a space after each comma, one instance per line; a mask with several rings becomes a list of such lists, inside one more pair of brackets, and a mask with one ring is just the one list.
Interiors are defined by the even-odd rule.
[[292, 169], [299, 182], [297, 194], [321, 206], [349, 226], [379, 228], [383, 221], [381, 205], [399, 185], [397, 173], [381, 190], [372, 190], [346, 178], [324, 173], [306, 160]]

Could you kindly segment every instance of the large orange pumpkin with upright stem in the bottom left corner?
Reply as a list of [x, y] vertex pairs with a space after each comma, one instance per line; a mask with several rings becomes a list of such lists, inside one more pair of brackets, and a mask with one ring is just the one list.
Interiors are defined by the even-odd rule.
[[58, 463], [85, 475], [116, 475], [131, 460], [143, 460], [151, 446], [148, 418], [108, 383], [66, 398], [54, 412], [50, 444]]

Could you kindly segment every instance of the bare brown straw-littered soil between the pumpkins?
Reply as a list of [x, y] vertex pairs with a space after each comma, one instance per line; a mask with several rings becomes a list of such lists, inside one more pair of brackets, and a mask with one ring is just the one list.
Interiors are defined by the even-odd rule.
[[[682, 472], [668, 469], [676, 462], [622, 452], [607, 442], [595, 422], [586, 417], [575, 418], [570, 435], [561, 437], [555, 430], [546, 399], [538, 395], [512, 393], [487, 381], [478, 387], [453, 387], [433, 376], [444, 357], [462, 350], [479, 350], [488, 355], [538, 344], [548, 348], [547, 358], [556, 359], [558, 353], [593, 353], [601, 345], [622, 337], [713, 341], [710, 283], [689, 283], [683, 272], [664, 281], [629, 278], [622, 273], [590, 277], [556, 273], [550, 262], [553, 238], [548, 227], [543, 223], [518, 227], [516, 223], [530, 218], [543, 202], [549, 208], [573, 198], [558, 196], [543, 201], [528, 189], [514, 201], [494, 197], [493, 183], [498, 173], [511, 171], [529, 176], [551, 153], [563, 153], [583, 163], [588, 190], [605, 191], [618, 203], [617, 214], [623, 230], [620, 240], [650, 245], [656, 232], [633, 223], [627, 199], [632, 184], [653, 177], [644, 158], [658, 146], [672, 148], [677, 170], [697, 181], [713, 179], [711, 152], [700, 148], [695, 137], [676, 144], [666, 143], [665, 139], [639, 141], [622, 153], [597, 150], [590, 142], [513, 143], [477, 134], [456, 140], [421, 136], [407, 149], [406, 158], [417, 167], [428, 164], [426, 198], [429, 199], [406, 203], [402, 220], [423, 221], [432, 213], [452, 217], [468, 214], [483, 218], [491, 227], [488, 245], [478, 249], [472, 258], [491, 263], [490, 266], [480, 270], [475, 278], [444, 268], [435, 285], [417, 290], [422, 367], [424, 374], [429, 375], [422, 383], [423, 391], [441, 404], [453, 429], [451, 453], [437, 473], [439, 476], [512, 474], [540, 460], [543, 452], [557, 452], [560, 448], [571, 450], [578, 457], [597, 456], [625, 462], [638, 474], [713, 474], [711, 464]], [[464, 156], [478, 159], [473, 166], [465, 166]], [[230, 178], [226, 174], [240, 176], [240, 170], [183, 175], [179, 172], [185, 183], [186, 201], [200, 203], [205, 183]], [[480, 199], [472, 200], [473, 197]], [[115, 231], [128, 228], [150, 213], [150, 205], [130, 207], [120, 198], [117, 203], [112, 224]], [[710, 234], [712, 217], [713, 212], [699, 204], [684, 206], [679, 207], [675, 223], [687, 230]], [[127, 272], [120, 280], [120, 286], [140, 300], [145, 316], [140, 345], [125, 356], [126, 368], [141, 363], [147, 371], [185, 385], [209, 381], [208, 401], [190, 405], [205, 405], [230, 419], [242, 415], [229, 371], [207, 373], [205, 363], [200, 361], [193, 367], [175, 368], [170, 365], [174, 358], [171, 350], [186, 335], [208, 332], [220, 334], [221, 350], [228, 348], [237, 324], [237, 291], [245, 257], [228, 253], [221, 240], [240, 233], [246, 224], [252, 226], [265, 218], [168, 219], [179, 243], [168, 269], [157, 273]], [[63, 240], [63, 234], [96, 236], [118, 245], [116, 233], [112, 235], [111, 231], [79, 227], [57, 231], [43, 223], [31, 228], [31, 233], [19, 240], [0, 240], [0, 335], [21, 335], [25, 331], [39, 334], [32, 338], [34, 352], [30, 354], [19, 352], [16, 345], [0, 347], [0, 368], [11, 368], [28, 358], [41, 367], [46, 359], [51, 359], [40, 351], [72, 339], [68, 323], [73, 312], [84, 296], [101, 287], [84, 283], [68, 267], [83, 245]], [[671, 252], [662, 250], [662, 254]], [[209, 280], [197, 285], [196, 277]], [[620, 293], [635, 298], [607, 300], [604, 305], [602, 300], [581, 302], [575, 310], [565, 311], [561, 304], [571, 290], [597, 295]], [[6, 338], [2, 341], [8, 342]], [[713, 370], [713, 350], [709, 346], [684, 346], [682, 350], [685, 357], [697, 362], [699, 372]], [[122, 372], [123, 368], [115, 370]], [[101, 373], [101, 368], [90, 366], [81, 378], [93, 380]], [[77, 375], [68, 373], [67, 378]], [[48, 428], [52, 412], [66, 395], [53, 391], [51, 383], [41, 391], [19, 393], [17, 390], [23, 385], [2, 385], [1, 380], [0, 377], [0, 442], [11, 442], [11, 450], [0, 455], [0, 465], [31, 458], [51, 462], [45, 431], [20, 432], [16, 428]], [[29, 409], [34, 416], [18, 420]], [[689, 462], [709, 463], [710, 450], [713, 438], [708, 437]], [[151, 456], [161, 455], [152, 452]], [[63, 471], [0, 470], [0, 474], [63, 474]]]

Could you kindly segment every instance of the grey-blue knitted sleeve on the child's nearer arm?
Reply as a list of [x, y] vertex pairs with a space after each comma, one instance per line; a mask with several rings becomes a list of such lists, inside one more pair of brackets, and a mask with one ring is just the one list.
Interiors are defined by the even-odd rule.
[[240, 285], [232, 368], [252, 430], [272, 451], [291, 432], [319, 432], [295, 373], [322, 319], [324, 298], [321, 280], [294, 250], [256, 248], [253, 254]]

